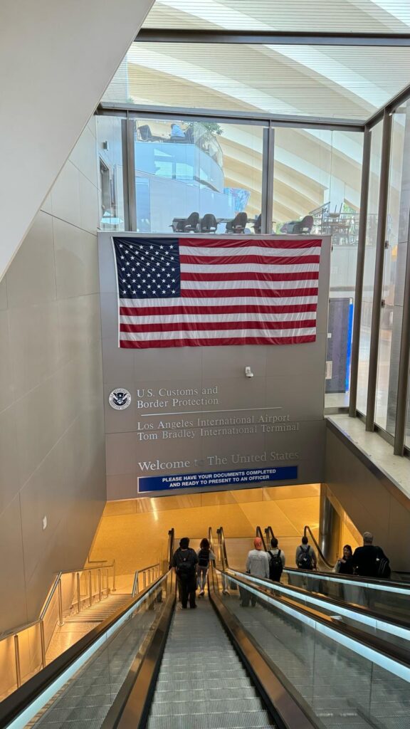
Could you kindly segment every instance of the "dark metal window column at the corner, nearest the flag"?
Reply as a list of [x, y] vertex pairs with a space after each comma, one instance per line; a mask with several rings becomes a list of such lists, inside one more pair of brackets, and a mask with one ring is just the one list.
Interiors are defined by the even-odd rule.
[[355, 306], [352, 334], [352, 364], [350, 367], [349, 416], [356, 417], [357, 374], [359, 370], [360, 319], [363, 300], [363, 276], [365, 270], [365, 238], [367, 230], [368, 180], [370, 176], [371, 131], [365, 128], [363, 136], [362, 184], [360, 188], [360, 220], [357, 241]]

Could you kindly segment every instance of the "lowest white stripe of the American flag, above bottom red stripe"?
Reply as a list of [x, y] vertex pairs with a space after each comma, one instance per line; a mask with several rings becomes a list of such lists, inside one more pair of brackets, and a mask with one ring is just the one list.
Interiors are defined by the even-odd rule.
[[316, 334], [316, 327], [302, 329], [245, 329], [245, 330], [218, 330], [215, 332], [120, 332], [120, 338], [128, 342], [146, 342], [151, 340], [179, 340], [179, 339], [242, 339], [242, 338], [282, 338], [282, 337], [309, 337]]

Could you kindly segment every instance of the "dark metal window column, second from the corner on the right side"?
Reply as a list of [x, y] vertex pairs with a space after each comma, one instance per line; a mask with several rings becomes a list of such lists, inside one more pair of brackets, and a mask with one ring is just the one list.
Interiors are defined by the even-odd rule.
[[377, 364], [379, 355], [380, 313], [382, 309], [384, 250], [386, 246], [387, 203], [389, 195], [390, 148], [392, 143], [392, 117], [384, 112], [382, 137], [382, 164], [380, 167], [379, 211], [376, 240], [376, 265], [374, 269], [373, 309], [371, 313], [371, 338], [368, 362], [368, 391], [366, 406], [366, 430], [374, 430], [376, 411]]

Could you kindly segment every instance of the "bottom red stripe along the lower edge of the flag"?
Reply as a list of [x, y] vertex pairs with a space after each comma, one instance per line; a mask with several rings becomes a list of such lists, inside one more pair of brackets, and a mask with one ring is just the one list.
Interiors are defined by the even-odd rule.
[[131, 342], [121, 340], [123, 349], [149, 349], [152, 347], [207, 347], [207, 346], [234, 346], [236, 344], [304, 344], [316, 341], [314, 334], [301, 337], [229, 337], [221, 339], [151, 339]]

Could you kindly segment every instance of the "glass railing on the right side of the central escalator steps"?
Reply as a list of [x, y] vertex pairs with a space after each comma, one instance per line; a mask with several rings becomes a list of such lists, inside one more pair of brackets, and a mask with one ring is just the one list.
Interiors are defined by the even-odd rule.
[[229, 579], [237, 589], [220, 595], [226, 609], [323, 726], [403, 729], [409, 718], [408, 662], [376, 650], [371, 641], [352, 638], [329, 617], [261, 595], [249, 580], [232, 574]]

